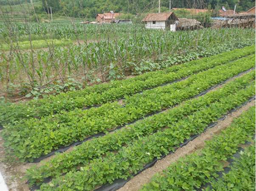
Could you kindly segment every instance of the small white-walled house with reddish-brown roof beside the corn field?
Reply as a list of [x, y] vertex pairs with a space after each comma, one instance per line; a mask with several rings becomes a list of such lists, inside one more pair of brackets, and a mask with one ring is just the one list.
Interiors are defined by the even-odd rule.
[[142, 20], [146, 22], [146, 28], [152, 29], [166, 29], [170, 27], [170, 30], [176, 30], [175, 21], [178, 18], [175, 16], [173, 12], [169, 13], [150, 13]]

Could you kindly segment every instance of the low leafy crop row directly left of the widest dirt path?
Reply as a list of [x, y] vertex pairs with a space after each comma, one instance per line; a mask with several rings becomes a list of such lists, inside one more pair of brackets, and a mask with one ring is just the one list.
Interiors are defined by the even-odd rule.
[[[112, 183], [118, 178], [126, 179], [142, 169], [153, 158], [174, 151], [191, 135], [202, 133], [210, 123], [240, 106], [254, 95], [254, 92], [255, 88], [248, 87], [228, 95], [200, 112], [188, 115], [183, 120], [163, 128], [162, 131], [133, 141], [117, 153], [108, 152], [102, 157], [91, 160], [89, 164], [81, 166], [79, 171], [72, 170], [64, 176], [56, 177], [49, 184], [42, 184], [40, 189], [92, 190], [102, 184]], [[254, 127], [251, 131], [254, 131]], [[242, 134], [237, 136], [243, 137]]]

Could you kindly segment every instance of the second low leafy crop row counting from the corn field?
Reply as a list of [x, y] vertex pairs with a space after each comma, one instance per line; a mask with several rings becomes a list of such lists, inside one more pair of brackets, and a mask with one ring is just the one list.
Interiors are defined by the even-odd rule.
[[254, 63], [255, 55], [252, 55], [219, 65], [194, 74], [184, 81], [127, 97], [125, 107], [113, 107], [102, 113], [96, 112], [96, 115], [91, 117], [75, 110], [65, 115], [27, 120], [3, 130], [4, 144], [9, 153], [21, 159], [31, 160], [63, 145], [106, 132], [147, 114], [179, 104], [225, 79], [252, 68]]

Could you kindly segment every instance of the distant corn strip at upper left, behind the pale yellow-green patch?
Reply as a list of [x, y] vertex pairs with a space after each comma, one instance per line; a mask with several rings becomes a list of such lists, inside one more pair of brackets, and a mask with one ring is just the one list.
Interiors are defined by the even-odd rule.
[[37, 38], [42, 38], [44, 35], [51, 35], [51, 38], [72, 38], [77, 37], [97, 37], [110, 32], [115, 33], [132, 33], [141, 32], [144, 30], [143, 25], [127, 25], [127, 24], [106, 24], [106, 25], [81, 25], [70, 23], [0, 23], [0, 36], [6, 37], [9, 35], [8, 25], [12, 27], [12, 33], [16, 36], [35, 35]]

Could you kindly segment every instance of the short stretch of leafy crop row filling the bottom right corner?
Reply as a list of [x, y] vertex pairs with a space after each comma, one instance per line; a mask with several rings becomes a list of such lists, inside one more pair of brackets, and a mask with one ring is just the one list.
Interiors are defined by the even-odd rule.
[[241, 151], [241, 158], [231, 166], [231, 171], [223, 173], [223, 177], [214, 180], [206, 191], [240, 191], [255, 190], [255, 142]]

